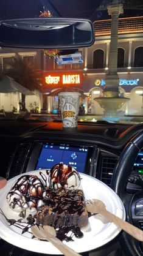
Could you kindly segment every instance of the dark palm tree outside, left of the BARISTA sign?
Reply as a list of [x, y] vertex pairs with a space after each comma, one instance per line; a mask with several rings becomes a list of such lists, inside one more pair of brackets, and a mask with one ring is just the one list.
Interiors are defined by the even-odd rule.
[[[41, 91], [41, 86], [38, 83], [38, 75], [35, 72], [35, 69], [31, 66], [29, 62], [24, 61], [21, 58], [13, 58], [11, 67], [5, 75], [12, 77], [17, 83], [23, 85], [25, 88], [33, 91], [37, 89]], [[22, 94], [22, 110], [26, 110], [26, 96]]]

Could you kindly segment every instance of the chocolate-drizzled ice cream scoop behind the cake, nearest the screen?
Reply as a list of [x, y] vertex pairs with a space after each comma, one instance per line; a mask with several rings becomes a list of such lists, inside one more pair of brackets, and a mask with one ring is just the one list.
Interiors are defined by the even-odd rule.
[[80, 175], [70, 165], [57, 164], [49, 172], [49, 185], [53, 189], [77, 189], [80, 186]]

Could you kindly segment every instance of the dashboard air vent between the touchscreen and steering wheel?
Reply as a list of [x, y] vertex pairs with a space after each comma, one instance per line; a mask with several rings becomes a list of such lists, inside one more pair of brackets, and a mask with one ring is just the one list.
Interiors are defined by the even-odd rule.
[[100, 180], [103, 181], [108, 186], [111, 186], [111, 178], [113, 175], [113, 170], [117, 164], [118, 157], [113, 156], [103, 156], [102, 157], [102, 169]]

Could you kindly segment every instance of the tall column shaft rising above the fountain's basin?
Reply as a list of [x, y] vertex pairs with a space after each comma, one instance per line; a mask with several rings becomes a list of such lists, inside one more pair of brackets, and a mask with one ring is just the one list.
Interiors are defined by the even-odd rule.
[[119, 0], [113, 0], [107, 7], [108, 14], [111, 15], [111, 42], [108, 63], [108, 73], [106, 75], [106, 86], [104, 94], [106, 97], [119, 97], [119, 77], [117, 75], [117, 40], [119, 14], [123, 13], [122, 4]]

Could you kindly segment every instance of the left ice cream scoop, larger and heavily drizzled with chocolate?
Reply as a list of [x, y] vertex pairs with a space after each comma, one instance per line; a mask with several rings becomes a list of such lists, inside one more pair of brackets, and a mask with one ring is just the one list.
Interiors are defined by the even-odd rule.
[[34, 210], [43, 205], [44, 186], [36, 175], [21, 176], [7, 194], [7, 201], [13, 211]]

